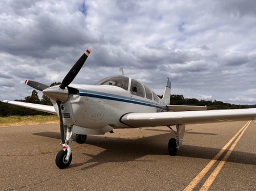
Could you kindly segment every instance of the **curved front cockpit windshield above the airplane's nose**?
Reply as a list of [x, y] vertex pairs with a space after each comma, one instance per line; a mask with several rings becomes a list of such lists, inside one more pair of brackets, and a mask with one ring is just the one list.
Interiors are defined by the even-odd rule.
[[96, 85], [117, 86], [127, 91], [129, 86], [129, 78], [124, 77], [122, 75], [115, 76], [115, 77], [108, 77], [108, 78], [102, 79], [100, 82], [96, 83]]

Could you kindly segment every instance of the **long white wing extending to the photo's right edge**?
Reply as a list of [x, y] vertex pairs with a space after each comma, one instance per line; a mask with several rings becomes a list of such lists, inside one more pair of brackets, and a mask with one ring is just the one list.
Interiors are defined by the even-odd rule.
[[120, 119], [132, 127], [205, 124], [208, 122], [254, 120], [256, 109], [226, 109], [163, 113], [127, 113]]

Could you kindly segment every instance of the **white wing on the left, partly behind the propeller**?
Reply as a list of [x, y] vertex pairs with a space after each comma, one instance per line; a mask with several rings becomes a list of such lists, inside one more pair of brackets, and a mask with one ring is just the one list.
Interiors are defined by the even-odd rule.
[[18, 105], [25, 108], [35, 109], [41, 112], [47, 112], [52, 114], [57, 114], [54, 107], [51, 105], [42, 105], [42, 104], [31, 104], [22, 101], [9, 101], [9, 100], [1, 100], [3, 103]]

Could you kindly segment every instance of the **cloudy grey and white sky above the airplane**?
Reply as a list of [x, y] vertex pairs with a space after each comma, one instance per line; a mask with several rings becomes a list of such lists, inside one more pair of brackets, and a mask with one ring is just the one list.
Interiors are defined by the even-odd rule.
[[169, 77], [171, 94], [256, 104], [254, 0], [1, 0], [0, 42], [0, 100], [30, 96], [26, 79], [61, 82], [90, 49], [72, 83], [123, 66], [159, 95]]

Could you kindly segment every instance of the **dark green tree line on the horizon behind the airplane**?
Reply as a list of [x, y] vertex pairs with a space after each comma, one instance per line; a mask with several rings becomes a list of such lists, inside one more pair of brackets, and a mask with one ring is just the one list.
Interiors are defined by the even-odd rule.
[[[59, 83], [52, 83], [51, 86], [55, 86]], [[159, 96], [160, 98], [162, 96]], [[23, 101], [27, 103], [35, 103], [35, 104], [44, 104], [44, 105], [52, 105], [51, 100], [43, 95], [41, 99], [39, 99], [38, 92], [36, 90], [32, 91], [31, 96], [27, 96], [22, 100], [15, 101]], [[171, 105], [207, 105], [208, 109], [241, 109], [241, 108], [256, 108], [256, 105], [235, 105], [230, 103], [224, 103], [222, 101], [217, 100], [197, 100], [195, 98], [185, 98], [183, 95], [171, 95], [170, 96], [170, 104]], [[50, 113], [36, 111], [34, 109], [27, 109], [15, 105], [10, 105], [6, 103], [0, 102], [0, 117], [6, 116], [35, 116], [35, 115], [51, 115]]]

